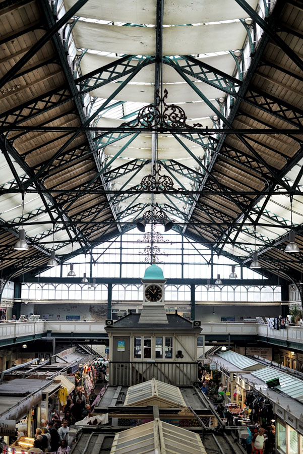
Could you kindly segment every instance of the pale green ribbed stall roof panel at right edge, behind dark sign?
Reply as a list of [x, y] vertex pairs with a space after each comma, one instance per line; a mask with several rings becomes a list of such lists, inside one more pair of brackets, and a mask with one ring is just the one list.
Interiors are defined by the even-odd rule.
[[289, 395], [292, 399], [303, 403], [303, 381], [298, 378], [294, 378], [288, 374], [273, 369], [272, 367], [265, 367], [264, 369], [252, 372], [252, 375], [259, 378], [262, 381], [273, 380], [278, 378], [280, 381], [279, 386], [275, 386], [276, 389]]

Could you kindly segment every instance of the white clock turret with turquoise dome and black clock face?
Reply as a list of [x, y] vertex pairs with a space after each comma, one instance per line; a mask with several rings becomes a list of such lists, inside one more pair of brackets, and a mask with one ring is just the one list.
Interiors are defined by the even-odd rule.
[[164, 284], [162, 269], [153, 263], [146, 268], [143, 282], [143, 308], [139, 323], [168, 323], [164, 307]]

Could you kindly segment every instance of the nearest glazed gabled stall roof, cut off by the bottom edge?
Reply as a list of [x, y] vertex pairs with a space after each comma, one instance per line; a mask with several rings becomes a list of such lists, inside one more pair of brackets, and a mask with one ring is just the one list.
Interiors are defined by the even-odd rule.
[[206, 454], [198, 434], [172, 424], [155, 421], [124, 430], [115, 435], [110, 454]]

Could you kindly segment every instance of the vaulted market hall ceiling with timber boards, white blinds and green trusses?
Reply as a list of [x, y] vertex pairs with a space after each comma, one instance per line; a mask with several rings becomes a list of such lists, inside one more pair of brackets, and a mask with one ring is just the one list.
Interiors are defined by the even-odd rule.
[[[284, 248], [288, 195], [303, 246], [300, 2], [142, 5], [0, 3], [3, 277], [44, 269], [53, 246], [65, 260], [133, 228], [157, 162], [174, 230], [247, 265], [256, 239], [261, 272], [299, 280], [301, 253]], [[203, 133], [119, 129], [154, 102], [161, 61], [166, 102]], [[21, 225], [27, 251], [13, 250]]]

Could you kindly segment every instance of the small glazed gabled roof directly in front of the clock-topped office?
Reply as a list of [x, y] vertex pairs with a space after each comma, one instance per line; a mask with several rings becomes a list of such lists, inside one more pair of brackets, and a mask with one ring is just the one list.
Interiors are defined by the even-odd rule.
[[126, 395], [125, 407], [187, 407], [178, 387], [152, 378], [144, 383], [130, 386]]

